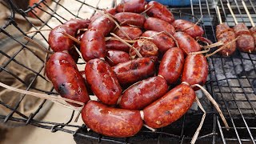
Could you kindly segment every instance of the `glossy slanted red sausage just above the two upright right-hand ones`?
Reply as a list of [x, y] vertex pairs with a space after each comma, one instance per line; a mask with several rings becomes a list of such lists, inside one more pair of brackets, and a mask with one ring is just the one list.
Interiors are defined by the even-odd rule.
[[190, 54], [201, 50], [198, 42], [196, 42], [189, 34], [178, 31], [174, 34], [174, 38], [178, 42], [178, 46], [182, 49], [184, 54]]

